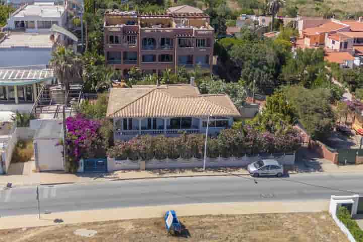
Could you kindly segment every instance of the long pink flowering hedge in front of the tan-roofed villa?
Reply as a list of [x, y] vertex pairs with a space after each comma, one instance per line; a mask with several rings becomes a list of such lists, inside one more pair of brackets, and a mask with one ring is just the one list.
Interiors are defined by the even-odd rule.
[[[204, 154], [203, 134], [179, 137], [140, 136], [130, 141], [116, 143], [108, 149], [108, 156], [116, 159], [176, 159], [197, 157]], [[217, 138], [208, 138], [208, 157], [241, 157], [257, 153], [290, 153], [301, 145], [301, 137], [295, 130], [272, 134], [259, 132], [251, 127], [223, 130]]]

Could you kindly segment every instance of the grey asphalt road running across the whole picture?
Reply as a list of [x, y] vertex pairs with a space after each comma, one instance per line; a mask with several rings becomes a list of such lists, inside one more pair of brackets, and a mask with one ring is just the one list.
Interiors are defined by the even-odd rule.
[[[190, 203], [306, 201], [363, 194], [363, 174], [214, 176], [40, 186], [41, 213]], [[0, 190], [0, 216], [37, 213], [36, 187]]]

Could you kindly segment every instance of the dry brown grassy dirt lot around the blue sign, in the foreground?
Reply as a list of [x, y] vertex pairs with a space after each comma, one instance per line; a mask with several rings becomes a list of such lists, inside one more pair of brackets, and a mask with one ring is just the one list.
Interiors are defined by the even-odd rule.
[[[345, 235], [330, 215], [322, 213], [207, 215], [181, 217], [183, 236], [167, 235], [162, 218], [57, 225], [0, 230], [0, 241], [248, 241], [248, 242], [345, 242]], [[75, 235], [92, 229], [92, 237]]]

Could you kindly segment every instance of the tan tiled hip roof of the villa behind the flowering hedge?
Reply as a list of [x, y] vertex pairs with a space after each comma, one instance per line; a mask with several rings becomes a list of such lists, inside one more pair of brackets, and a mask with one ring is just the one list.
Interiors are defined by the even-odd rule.
[[240, 116], [228, 95], [173, 96], [173, 92], [159, 87], [112, 88], [107, 117], [204, 117], [208, 112], [214, 116]]

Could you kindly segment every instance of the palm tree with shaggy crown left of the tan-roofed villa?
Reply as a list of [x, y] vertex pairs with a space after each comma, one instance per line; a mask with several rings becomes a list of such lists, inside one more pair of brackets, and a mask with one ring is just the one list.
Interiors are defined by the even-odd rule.
[[[82, 59], [71, 48], [58, 46], [52, 52], [49, 66], [65, 87], [65, 95], [67, 96], [70, 90], [70, 83], [77, 78], [81, 78]], [[67, 104], [65, 99], [65, 105], [67, 106]]]

